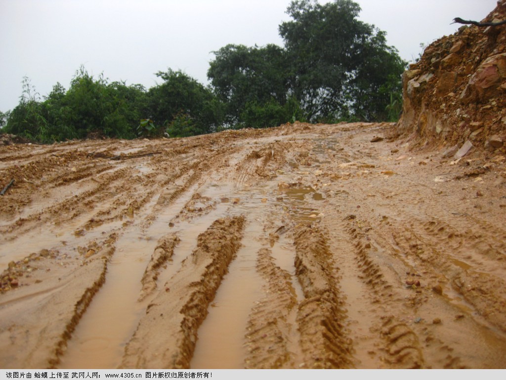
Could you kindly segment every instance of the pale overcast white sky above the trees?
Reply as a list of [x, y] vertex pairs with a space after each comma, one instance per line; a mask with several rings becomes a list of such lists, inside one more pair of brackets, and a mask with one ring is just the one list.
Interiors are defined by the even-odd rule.
[[[328, 1], [321, 0], [320, 3]], [[454, 33], [454, 17], [482, 20], [496, 0], [355, 0], [359, 18], [387, 32], [412, 61], [420, 43]], [[0, 110], [14, 108], [26, 75], [40, 95], [68, 89], [81, 64], [110, 81], [156, 84], [181, 69], [207, 84], [212, 51], [227, 44], [282, 46], [290, 0], [0, 0]]]

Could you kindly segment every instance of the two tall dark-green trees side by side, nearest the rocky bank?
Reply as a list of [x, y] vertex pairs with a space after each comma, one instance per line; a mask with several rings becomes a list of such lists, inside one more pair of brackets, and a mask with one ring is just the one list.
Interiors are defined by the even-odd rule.
[[284, 48], [227, 45], [214, 52], [207, 77], [225, 104], [225, 124], [272, 126], [293, 119], [380, 121], [390, 94], [400, 95], [406, 62], [383, 31], [358, 20], [351, 0], [292, 1], [279, 25]]

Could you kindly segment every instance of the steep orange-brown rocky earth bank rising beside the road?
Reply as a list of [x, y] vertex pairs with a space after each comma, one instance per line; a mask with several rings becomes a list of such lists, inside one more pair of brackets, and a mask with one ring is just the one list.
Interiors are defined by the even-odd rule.
[[[506, 19], [506, 0], [483, 20]], [[403, 112], [397, 132], [412, 146], [470, 141], [504, 153], [506, 25], [462, 26], [428, 46], [403, 74]]]

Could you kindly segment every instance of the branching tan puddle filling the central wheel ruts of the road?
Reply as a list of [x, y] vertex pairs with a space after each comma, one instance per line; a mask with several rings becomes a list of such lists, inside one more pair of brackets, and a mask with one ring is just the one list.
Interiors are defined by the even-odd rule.
[[[279, 218], [288, 214], [293, 220], [312, 222], [319, 211], [311, 206], [323, 200], [323, 196], [311, 186], [301, 185], [280, 192], [278, 182], [279, 178], [276, 178], [261, 186], [245, 186], [242, 189], [227, 183], [204, 187], [195, 185], [171, 206], [157, 212], [156, 218], [146, 225], [143, 224], [143, 216], [156, 204], [156, 197], [151, 199], [143, 211], [133, 217], [132, 224], [123, 229], [123, 235], [116, 243], [116, 252], [108, 264], [106, 282], [68, 341], [60, 367], [119, 366], [124, 347], [147, 305], [196, 248], [198, 235], [220, 217], [245, 215], [248, 220], [242, 240], [245, 246], [231, 263], [229, 273], [209, 307], [209, 314], [198, 331], [191, 362], [192, 368], [243, 368], [248, 316], [255, 301], [262, 296], [262, 280], [256, 271], [256, 260], [258, 250], [269, 245], [266, 239], [260, 240], [260, 236], [265, 235], [265, 217], [274, 212]], [[197, 192], [201, 198], [193, 199]], [[186, 207], [190, 200], [193, 200], [192, 207]], [[207, 200], [214, 205], [212, 208], [206, 208]], [[180, 241], [172, 258], [159, 270], [158, 290], [139, 302], [140, 280], [156, 242], [170, 233], [174, 233]], [[280, 268], [290, 274], [297, 299], [304, 299], [295, 276], [295, 252], [291, 239], [282, 235], [269, 248]], [[297, 308], [293, 308], [288, 319], [293, 326], [290, 351], [297, 352]]]

